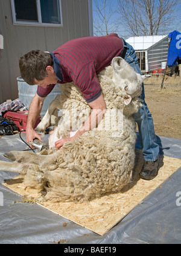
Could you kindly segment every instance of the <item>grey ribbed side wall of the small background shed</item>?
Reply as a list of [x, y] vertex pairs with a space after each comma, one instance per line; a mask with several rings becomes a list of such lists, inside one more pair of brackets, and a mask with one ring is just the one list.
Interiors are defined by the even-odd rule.
[[162, 62], [167, 62], [168, 56], [168, 36], [160, 40], [147, 50], [148, 70], [152, 71], [161, 68]]

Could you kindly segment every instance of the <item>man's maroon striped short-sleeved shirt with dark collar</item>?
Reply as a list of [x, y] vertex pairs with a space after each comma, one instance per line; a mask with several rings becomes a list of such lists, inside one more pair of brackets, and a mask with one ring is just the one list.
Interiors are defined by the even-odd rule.
[[[110, 65], [113, 57], [120, 56], [122, 49], [122, 39], [115, 33], [109, 36], [82, 37], [66, 42], [51, 53], [58, 83], [74, 81], [85, 100], [88, 103], [94, 101], [101, 94], [97, 74]], [[37, 94], [46, 97], [54, 86], [38, 86]]]

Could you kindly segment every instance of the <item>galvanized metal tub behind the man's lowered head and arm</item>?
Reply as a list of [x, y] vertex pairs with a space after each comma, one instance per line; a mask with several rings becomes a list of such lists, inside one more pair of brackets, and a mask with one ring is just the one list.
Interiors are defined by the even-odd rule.
[[[17, 79], [19, 99], [22, 101], [24, 106], [27, 107], [27, 109], [29, 109], [31, 100], [36, 94], [37, 85], [28, 85], [28, 83], [26, 83], [22, 77], [17, 77], [16, 79]], [[48, 109], [49, 103], [51, 103], [51, 101], [54, 100], [54, 98], [56, 98], [56, 96], [60, 93], [61, 93], [60, 85], [57, 83], [54, 89], [52, 89], [50, 94], [46, 96], [43, 102], [42, 111], [40, 113], [41, 117], [45, 115], [46, 110]]]

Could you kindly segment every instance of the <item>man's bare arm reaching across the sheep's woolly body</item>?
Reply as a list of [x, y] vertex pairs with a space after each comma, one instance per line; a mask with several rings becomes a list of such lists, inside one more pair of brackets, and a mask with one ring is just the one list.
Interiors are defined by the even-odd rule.
[[84, 132], [94, 129], [103, 119], [103, 116], [106, 113], [106, 103], [104, 101], [103, 94], [101, 94], [100, 97], [88, 104], [92, 109], [89, 118], [87, 118], [84, 125], [77, 131], [77, 133], [75, 133], [74, 136], [72, 136], [71, 138], [62, 138], [59, 139], [59, 141], [56, 141], [56, 149], [62, 147], [66, 141], [74, 141], [74, 139], [81, 136]]

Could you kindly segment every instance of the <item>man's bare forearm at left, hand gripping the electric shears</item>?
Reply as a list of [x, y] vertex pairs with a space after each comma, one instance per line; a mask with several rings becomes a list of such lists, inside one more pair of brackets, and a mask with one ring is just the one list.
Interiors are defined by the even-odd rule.
[[39, 95], [36, 94], [33, 100], [31, 101], [30, 108], [28, 110], [28, 119], [26, 127], [26, 141], [28, 143], [30, 141], [33, 141], [34, 138], [37, 138], [40, 141], [42, 141], [41, 136], [35, 132], [34, 125], [36, 123], [37, 118], [40, 116], [44, 100], [45, 98], [39, 97]]

